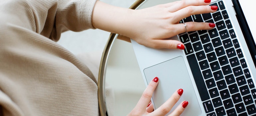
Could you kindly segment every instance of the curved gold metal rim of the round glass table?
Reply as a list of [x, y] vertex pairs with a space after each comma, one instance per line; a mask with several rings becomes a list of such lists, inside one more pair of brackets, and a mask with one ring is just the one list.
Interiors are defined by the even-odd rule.
[[[141, 3], [143, 3], [145, 0], [136, 0], [130, 7], [130, 9], [136, 9]], [[99, 75], [98, 75], [98, 100], [99, 100], [99, 110], [101, 116], [106, 116], [106, 103], [104, 98], [104, 92], [105, 92], [105, 68], [107, 63], [107, 58], [111, 49], [111, 46], [114, 42], [116, 33], [110, 33], [110, 36], [108, 38], [107, 44], [103, 50], [101, 61], [100, 61], [100, 67], [99, 67]]]

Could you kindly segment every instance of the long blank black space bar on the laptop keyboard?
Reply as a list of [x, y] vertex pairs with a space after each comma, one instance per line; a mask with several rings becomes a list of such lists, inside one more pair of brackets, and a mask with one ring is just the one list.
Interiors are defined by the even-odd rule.
[[203, 76], [201, 74], [197, 60], [195, 58], [195, 55], [191, 54], [191, 55], [187, 56], [187, 59], [189, 61], [190, 69], [192, 71], [192, 75], [194, 77], [194, 81], [195, 81], [196, 87], [198, 89], [199, 95], [201, 97], [201, 100], [205, 101], [207, 99], [210, 99], [207, 88], [206, 88], [204, 80], [203, 80]]

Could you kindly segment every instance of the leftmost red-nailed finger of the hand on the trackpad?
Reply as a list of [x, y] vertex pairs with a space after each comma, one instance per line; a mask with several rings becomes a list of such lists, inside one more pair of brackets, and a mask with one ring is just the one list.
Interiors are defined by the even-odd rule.
[[[142, 107], [145, 107], [145, 109], [148, 106], [148, 103], [150, 102], [150, 99], [152, 97], [152, 94], [155, 90], [155, 88], [157, 87], [158, 84], [158, 77], [155, 77], [148, 85], [148, 87], [144, 90], [144, 92], [142, 93], [142, 96], [140, 98], [140, 100], [138, 101], [136, 107], [138, 107], [138, 109], [141, 109]], [[145, 111], [144, 109], [144, 111]]]

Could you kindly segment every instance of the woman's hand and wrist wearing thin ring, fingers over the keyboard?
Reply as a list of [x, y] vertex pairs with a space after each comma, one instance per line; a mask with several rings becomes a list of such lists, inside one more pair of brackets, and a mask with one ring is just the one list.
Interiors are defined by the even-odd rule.
[[180, 41], [168, 40], [177, 34], [215, 27], [212, 23], [179, 22], [191, 15], [212, 13], [217, 6], [208, 6], [210, 0], [181, 0], [145, 9], [132, 10], [97, 1], [92, 16], [95, 28], [129, 37], [152, 48], [177, 49]]

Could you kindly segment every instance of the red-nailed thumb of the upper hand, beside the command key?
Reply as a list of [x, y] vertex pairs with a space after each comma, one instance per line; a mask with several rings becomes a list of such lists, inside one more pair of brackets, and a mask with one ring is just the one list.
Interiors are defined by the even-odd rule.
[[149, 47], [156, 49], [181, 49], [184, 50], [184, 44], [177, 40], [171, 39], [153, 39], [152, 42], [147, 43]]

